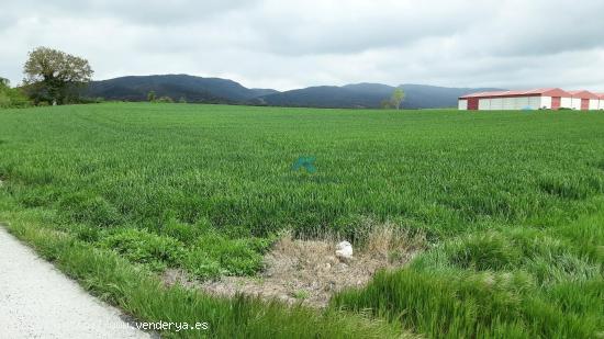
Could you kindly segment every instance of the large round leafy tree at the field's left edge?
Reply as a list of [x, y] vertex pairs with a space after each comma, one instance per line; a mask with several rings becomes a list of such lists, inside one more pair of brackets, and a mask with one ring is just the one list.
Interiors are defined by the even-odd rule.
[[77, 101], [93, 74], [87, 59], [47, 47], [30, 53], [23, 72], [23, 82], [35, 102], [57, 104]]

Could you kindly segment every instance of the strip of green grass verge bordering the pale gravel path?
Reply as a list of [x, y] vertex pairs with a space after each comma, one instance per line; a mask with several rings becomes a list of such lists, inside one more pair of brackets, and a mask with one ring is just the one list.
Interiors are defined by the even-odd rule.
[[401, 332], [385, 321], [368, 320], [340, 312], [316, 312], [237, 295], [221, 298], [164, 286], [145, 268], [133, 265], [115, 252], [94, 248], [71, 235], [44, 226], [53, 218], [42, 210], [9, 212], [0, 219], [7, 228], [54, 262], [86, 290], [144, 321], [206, 321], [206, 331], [163, 332], [166, 338], [394, 338]]

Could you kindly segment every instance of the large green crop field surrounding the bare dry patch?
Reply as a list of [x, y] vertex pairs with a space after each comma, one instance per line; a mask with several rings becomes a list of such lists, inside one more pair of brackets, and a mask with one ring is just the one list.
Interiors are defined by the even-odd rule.
[[[239, 338], [604, 336], [602, 112], [2, 110], [0, 179], [0, 221], [139, 319]], [[428, 248], [326, 310], [156, 278], [253, 275], [283, 231], [362, 246], [385, 223]]]

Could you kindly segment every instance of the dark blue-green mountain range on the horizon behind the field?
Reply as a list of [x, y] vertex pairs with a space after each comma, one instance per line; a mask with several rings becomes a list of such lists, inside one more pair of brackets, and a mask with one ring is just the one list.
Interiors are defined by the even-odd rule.
[[[457, 106], [457, 99], [491, 88], [445, 88], [425, 84], [401, 84], [405, 92], [403, 108], [436, 109]], [[220, 78], [187, 75], [136, 76], [92, 81], [85, 90], [88, 98], [146, 101], [149, 91], [157, 98], [170, 97], [193, 103], [227, 103], [275, 106], [376, 109], [392, 94], [394, 87], [381, 83], [355, 83], [342, 87], [318, 86], [290, 91], [246, 88]]]

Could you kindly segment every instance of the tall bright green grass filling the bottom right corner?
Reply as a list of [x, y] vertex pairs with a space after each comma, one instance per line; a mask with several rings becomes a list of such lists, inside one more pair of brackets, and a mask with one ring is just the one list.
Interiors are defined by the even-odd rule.
[[332, 306], [371, 309], [435, 338], [596, 338], [604, 335], [603, 229], [599, 212], [556, 229], [448, 239]]

